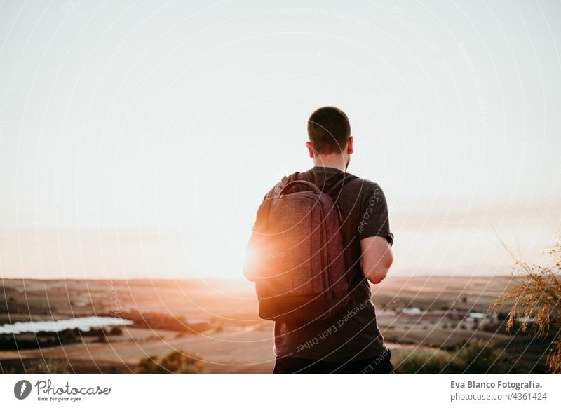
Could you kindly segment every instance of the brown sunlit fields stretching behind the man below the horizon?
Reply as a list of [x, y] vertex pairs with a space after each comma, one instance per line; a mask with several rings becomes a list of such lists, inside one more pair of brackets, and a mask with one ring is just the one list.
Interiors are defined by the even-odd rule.
[[[483, 339], [503, 349], [522, 371], [543, 372], [544, 344], [532, 336], [510, 336], [500, 320], [482, 314], [512, 280], [390, 277], [372, 287], [372, 301], [396, 355], [410, 348], [451, 350], [462, 341]], [[274, 364], [273, 324], [259, 319], [253, 287], [245, 281], [4, 279], [2, 286], [0, 326], [92, 315], [133, 316], [134, 324], [66, 344], [5, 347], [0, 372], [24, 372], [43, 360], [62, 371], [135, 372], [141, 358], [175, 350], [198, 355], [205, 372], [271, 372]]]

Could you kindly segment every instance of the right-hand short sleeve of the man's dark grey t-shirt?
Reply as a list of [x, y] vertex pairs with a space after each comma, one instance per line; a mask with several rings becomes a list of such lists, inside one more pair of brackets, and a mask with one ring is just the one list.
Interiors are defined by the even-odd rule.
[[384, 191], [378, 184], [365, 193], [360, 203], [358, 219], [358, 239], [370, 236], [384, 236], [393, 245], [393, 233], [390, 231], [388, 203]]

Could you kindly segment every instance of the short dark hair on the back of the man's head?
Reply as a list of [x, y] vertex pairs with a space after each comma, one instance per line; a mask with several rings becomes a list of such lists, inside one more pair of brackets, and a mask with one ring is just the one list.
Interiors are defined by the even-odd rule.
[[320, 107], [308, 119], [308, 137], [319, 154], [341, 153], [351, 136], [351, 123], [344, 111]]

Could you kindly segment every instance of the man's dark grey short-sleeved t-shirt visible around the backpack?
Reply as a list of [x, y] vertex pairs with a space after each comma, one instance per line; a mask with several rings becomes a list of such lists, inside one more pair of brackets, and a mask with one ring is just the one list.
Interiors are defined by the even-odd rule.
[[[313, 182], [327, 191], [344, 175], [345, 172], [336, 168], [314, 166], [292, 177]], [[264, 199], [278, 192], [279, 186], [280, 182], [266, 193]], [[370, 301], [370, 285], [360, 268], [360, 240], [384, 236], [393, 244], [384, 191], [378, 184], [358, 178], [344, 182], [342, 188], [332, 193], [332, 198], [337, 200], [341, 210], [351, 301], [346, 311], [332, 320], [307, 325], [276, 322], [274, 352], [277, 357], [345, 362], [376, 357], [386, 350], [376, 322], [374, 304]]]

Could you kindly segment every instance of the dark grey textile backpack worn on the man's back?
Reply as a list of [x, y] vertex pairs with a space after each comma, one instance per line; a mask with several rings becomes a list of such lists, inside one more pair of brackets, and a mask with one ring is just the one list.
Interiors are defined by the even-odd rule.
[[330, 194], [357, 177], [345, 174], [324, 193], [311, 182], [290, 181], [297, 175], [283, 178], [280, 191], [259, 206], [244, 265], [255, 281], [259, 316], [276, 322], [330, 319], [350, 299], [341, 212]]

